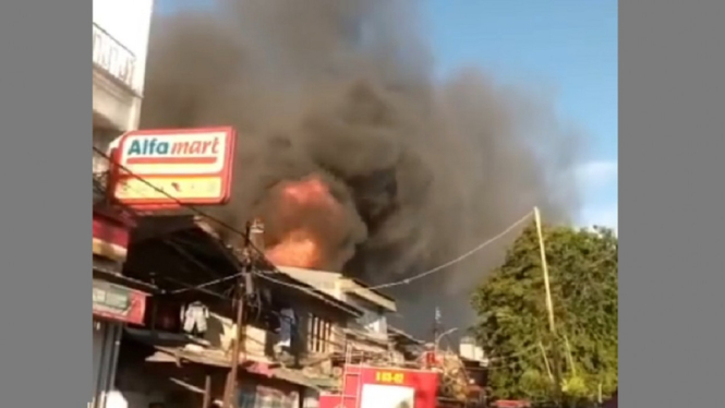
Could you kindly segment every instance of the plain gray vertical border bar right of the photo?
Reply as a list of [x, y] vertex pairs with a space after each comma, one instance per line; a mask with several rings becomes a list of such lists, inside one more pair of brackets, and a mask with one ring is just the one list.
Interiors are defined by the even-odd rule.
[[725, 407], [723, 16], [620, 3], [623, 407]]

